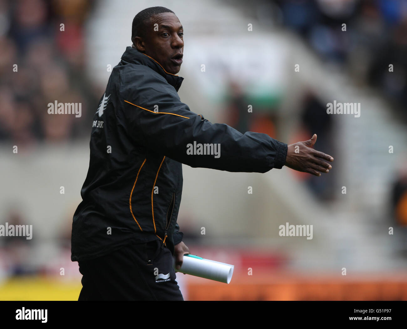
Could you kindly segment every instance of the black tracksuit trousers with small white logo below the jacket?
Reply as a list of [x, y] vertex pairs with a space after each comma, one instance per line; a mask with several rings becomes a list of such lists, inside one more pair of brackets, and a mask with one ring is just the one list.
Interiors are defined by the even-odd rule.
[[184, 300], [172, 262], [171, 251], [160, 240], [131, 243], [79, 261], [83, 276], [78, 300]]

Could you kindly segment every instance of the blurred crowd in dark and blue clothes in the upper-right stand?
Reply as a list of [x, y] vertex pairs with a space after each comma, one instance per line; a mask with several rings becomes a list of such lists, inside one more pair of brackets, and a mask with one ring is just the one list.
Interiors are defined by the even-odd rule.
[[[406, 0], [275, 0], [282, 22], [407, 121]], [[343, 25], [346, 24], [346, 25]], [[389, 68], [389, 65], [392, 65]]]

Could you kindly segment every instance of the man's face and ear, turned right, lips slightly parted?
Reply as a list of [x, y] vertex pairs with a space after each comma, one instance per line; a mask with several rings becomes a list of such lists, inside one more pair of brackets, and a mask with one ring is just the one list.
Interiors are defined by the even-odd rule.
[[[154, 24], [158, 24], [158, 30]], [[173, 13], [154, 15], [146, 31], [147, 38], [135, 38], [136, 48], [152, 57], [168, 73], [177, 74], [184, 53], [184, 30], [179, 19]]]

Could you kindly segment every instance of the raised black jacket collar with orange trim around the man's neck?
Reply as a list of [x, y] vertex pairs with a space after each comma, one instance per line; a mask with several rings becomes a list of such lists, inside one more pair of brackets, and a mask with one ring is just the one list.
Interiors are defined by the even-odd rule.
[[158, 61], [143, 53], [140, 53], [135, 48], [127, 47], [122, 56], [122, 61], [130, 64], [145, 65], [149, 68], [152, 68], [155, 72], [162, 75], [167, 80], [167, 82], [175, 88], [177, 92], [179, 90], [179, 87], [181, 87], [182, 80], [184, 80], [183, 77], [179, 77], [178, 75], [173, 75], [166, 72], [161, 64], [158, 63]]

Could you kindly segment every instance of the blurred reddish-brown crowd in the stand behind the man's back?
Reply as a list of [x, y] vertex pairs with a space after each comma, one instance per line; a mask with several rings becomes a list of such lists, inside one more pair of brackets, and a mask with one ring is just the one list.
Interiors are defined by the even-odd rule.
[[[100, 98], [83, 73], [92, 7], [89, 0], [0, 0], [0, 142], [30, 146], [89, 134]], [[81, 117], [49, 115], [55, 101], [81, 103]]]

